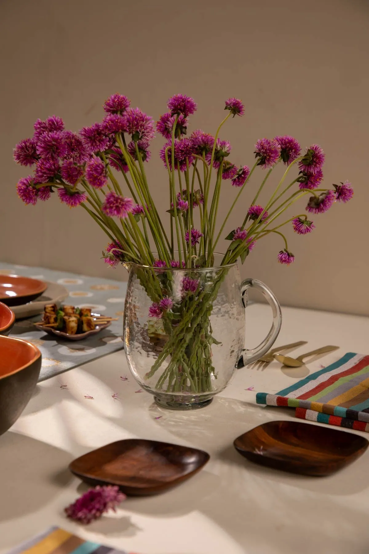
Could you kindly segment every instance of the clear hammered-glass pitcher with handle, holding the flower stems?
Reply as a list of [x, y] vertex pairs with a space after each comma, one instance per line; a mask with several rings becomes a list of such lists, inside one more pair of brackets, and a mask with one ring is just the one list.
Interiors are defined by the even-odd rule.
[[[271, 330], [254, 350], [243, 347], [250, 287], [260, 290], [273, 309]], [[271, 290], [253, 279], [241, 283], [237, 264], [199, 269], [129, 264], [124, 350], [133, 377], [160, 406], [194, 409], [209, 404], [237, 365], [269, 350], [281, 321]]]

